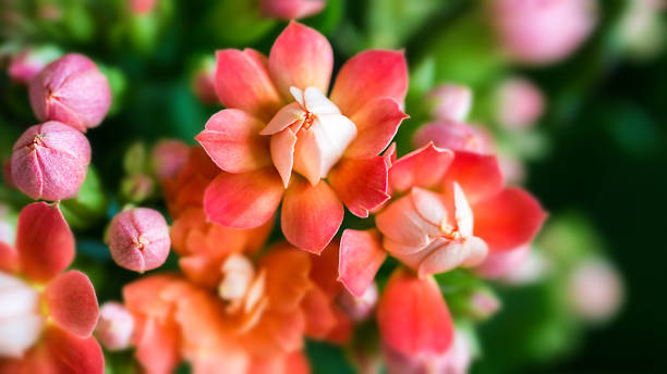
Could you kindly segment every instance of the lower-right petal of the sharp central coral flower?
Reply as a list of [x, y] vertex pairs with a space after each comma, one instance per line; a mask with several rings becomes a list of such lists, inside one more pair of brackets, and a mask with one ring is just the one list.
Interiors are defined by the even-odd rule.
[[389, 165], [381, 155], [343, 159], [329, 173], [329, 184], [352, 214], [367, 217], [368, 211], [389, 200]]

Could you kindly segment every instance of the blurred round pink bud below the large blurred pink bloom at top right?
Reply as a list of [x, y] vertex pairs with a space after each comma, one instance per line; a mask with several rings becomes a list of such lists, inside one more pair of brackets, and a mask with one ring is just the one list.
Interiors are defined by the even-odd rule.
[[498, 88], [496, 105], [496, 117], [501, 126], [526, 128], [544, 112], [544, 97], [532, 82], [510, 78]]

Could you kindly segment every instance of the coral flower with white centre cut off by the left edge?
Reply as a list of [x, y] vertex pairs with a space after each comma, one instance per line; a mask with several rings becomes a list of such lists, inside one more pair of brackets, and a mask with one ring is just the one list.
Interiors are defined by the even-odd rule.
[[0, 373], [102, 373], [92, 337], [99, 310], [83, 273], [63, 272], [74, 237], [45, 202], [19, 216], [16, 247], [0, 242]]

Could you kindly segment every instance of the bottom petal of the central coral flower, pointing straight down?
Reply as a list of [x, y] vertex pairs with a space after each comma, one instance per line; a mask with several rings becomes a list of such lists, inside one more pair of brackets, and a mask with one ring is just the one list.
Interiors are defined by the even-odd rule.
[[292, 245], [319, 253], [338, 232], [343, 213], [343, 204], [324, 180], [312, 186], [294, 178], [284, 194], [282, 233]]

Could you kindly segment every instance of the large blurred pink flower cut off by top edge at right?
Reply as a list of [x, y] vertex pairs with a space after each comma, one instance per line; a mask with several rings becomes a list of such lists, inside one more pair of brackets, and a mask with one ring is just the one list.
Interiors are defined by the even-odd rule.
[[492, 0], [490, 17], [505, 51], [526, 64], [572, 53], [597, 21], [595, 0]]

